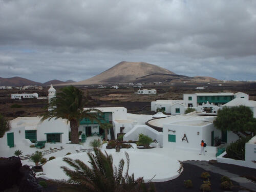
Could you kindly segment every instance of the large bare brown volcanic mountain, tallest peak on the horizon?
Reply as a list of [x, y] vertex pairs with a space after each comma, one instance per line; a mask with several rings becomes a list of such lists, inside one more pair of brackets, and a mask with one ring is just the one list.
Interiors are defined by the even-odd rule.
[[152, 65], [150, 63], [122, 61], [94, 77], [69, 84], [82, 85], [136, 82], [138, 78], [153, 74], [176, 76], [174, 72], [158, 67], [156, 65]]

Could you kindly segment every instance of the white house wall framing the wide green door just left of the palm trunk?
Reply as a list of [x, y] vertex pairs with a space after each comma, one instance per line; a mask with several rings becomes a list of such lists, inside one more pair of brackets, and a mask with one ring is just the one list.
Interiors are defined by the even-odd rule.
[[[67, 124], [63, 119], [45, 120], [37, 125], [37, 140], [47, 140], [45, 133], [63, 133], [61, 134], [61, 143], [69, 141], [70, 123]], [[24, 137], [25, 138], [25, 137]]]

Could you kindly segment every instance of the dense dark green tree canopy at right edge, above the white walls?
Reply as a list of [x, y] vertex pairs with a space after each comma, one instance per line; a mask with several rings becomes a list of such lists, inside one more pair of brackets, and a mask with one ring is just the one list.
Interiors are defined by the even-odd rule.
[[214, 125], [222, 131], [250, 131], [254, 135], [256, 132], [256, 119], [253, 118], [253, 112], [244, 105], [218, 110]]

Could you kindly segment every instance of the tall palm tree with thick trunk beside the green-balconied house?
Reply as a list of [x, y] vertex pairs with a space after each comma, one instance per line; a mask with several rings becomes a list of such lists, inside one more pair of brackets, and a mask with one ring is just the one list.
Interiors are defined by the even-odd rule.
[[[70, 122], [71, 129], [71, 143], [78, 144], [78, 127], [80, 120], [83, 118], [89, 118], [92, 122], [99, 121], [98, 113], [101, 111], [97, 109], [83, 110], [87, 104], [87, 100], [84, 98], [81, 90], [74, 86], [68, 86], [61, 89], [62, 92], [57, 93], [56, 97], [51, 99], [51, 102], [45, 109], [50, 109], [41, 115], [41, 121], [49, 118], [62, 118], [67, 119], [67, 123]], [[90, 112], [96, 113], [90, 113]]]

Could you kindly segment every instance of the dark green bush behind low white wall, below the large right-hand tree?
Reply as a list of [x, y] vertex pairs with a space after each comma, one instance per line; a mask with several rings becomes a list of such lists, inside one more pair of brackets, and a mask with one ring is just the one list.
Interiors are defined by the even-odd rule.
[[245, 143], [250, 139], [250, 137], [243, 137], [236, 142], [230, 143], [226, 148], [227, 157], [236, 160], [245, 160]]

